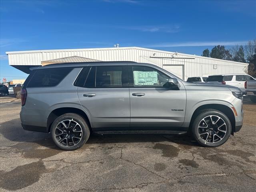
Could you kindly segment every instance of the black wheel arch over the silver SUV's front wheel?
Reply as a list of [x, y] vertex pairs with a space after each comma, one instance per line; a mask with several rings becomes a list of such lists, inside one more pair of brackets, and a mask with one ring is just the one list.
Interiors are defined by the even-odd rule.
[[236, 126], [236, 119], [235, 119], [234, 112], [232, 111], [232, 109], [230, 107], [223, 105], [223, 104], [204, 104], [204, 105], [196, 108], [196, 110], [194, 111], [194, 113], [191, 117], [191, 120], [190, 120], [190, 124], [189, 124], [190, 129], [191, 129], [194, 119], [196, 118], [198, 113], [204, 109], [215, 109], [215, 110], [218, 110], [218, 111], [224, 113], [230, 120], [231, 127], [232, 127], [231, 134], [234, 134], [235, 126]]

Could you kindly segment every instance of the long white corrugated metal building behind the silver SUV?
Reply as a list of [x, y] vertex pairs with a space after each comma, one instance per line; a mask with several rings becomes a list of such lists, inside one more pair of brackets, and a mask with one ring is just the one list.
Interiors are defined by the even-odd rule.
[[10, 66], [26, 73], [29, 73], [30, 67], [73, 56], [83, 57], [85, 61], [134, 61], [155, 64], [184, 80], [193, 76], [244, 74], [248, 67], [247, 63], [140, 47], [15, 51], [6, 54]]

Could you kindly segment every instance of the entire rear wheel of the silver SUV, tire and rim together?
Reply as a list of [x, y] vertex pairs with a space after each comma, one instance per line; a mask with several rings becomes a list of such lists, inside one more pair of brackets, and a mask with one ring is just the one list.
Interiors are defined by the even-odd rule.
[[90, 129], [82, 116], [66, 113], [54, 120], [51, 135], [56, 146], [71, 151], [84, 145], [90, 136]]

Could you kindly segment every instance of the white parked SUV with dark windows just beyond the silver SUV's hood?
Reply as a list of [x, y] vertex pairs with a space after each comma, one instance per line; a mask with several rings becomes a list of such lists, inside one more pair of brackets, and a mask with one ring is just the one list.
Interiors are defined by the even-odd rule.
[[254, 78], [246, 74], [211, 75], [207, 78], [206, 83], [236, 86], [242, 91], [245, 91], [244, 82], [247, 80], [254, 80]]

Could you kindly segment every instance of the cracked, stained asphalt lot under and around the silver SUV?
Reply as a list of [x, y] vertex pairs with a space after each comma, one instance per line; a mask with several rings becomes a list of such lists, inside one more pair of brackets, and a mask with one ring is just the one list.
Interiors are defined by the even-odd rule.
[[20, 125], [20, 102], [0, 104], [0, 187], [6, 191], [225, 191], [256, 188], [256, 105], [245, 102], [240, 132], [218, 148], [189, 136], [90, 136], [76, 151]]

